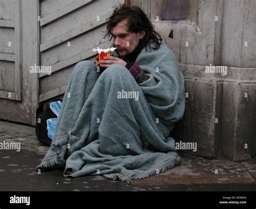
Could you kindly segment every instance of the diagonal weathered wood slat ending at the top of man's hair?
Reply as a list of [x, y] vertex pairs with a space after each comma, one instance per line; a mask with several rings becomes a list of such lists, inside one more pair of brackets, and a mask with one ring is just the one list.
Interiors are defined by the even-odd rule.
[[83, 25], [80, 25], [76, 29], [73, 29], [69, 32], [63, 33], [60, 36], [57, 36], [56, 38], [53, 38], [49, 40], [45, 44], [40, 45], [40, 52], [43, 52], [45, 50], [48, 50], [48, 48], [51, 48], [53, 46], [56, 46], [57, 44], [63, 43], [66, 40], [69, 40], [71, 38], [74, 38], [76, 36], [79, 36], [82, 33], [85, 33], [89, 30], [95, 29], [96, 27], [104, 24], [106, 22], [106, 18], [111, 15], [112, 12], [105, 13], [104, 15], [100, 16], [99, 21], [97, 18], [93, 18], [86, 22]]

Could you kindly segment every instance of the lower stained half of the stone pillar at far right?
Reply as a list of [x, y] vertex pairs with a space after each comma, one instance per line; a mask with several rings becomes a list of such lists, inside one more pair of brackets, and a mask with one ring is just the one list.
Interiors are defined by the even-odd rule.
[[256, 154], [255, 69], [231, 67], [223, 83], [222, 144], [224, 155], [245, 161]]

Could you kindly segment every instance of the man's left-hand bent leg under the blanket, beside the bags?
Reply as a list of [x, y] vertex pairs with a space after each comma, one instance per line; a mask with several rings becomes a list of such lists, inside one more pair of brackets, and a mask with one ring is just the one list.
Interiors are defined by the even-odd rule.
[[37, 169], [63, 168], [69, 149], [69, 134], [99, 77], [91, 61], [80, 61], [71, 73], [58, 117], [52, 144]]

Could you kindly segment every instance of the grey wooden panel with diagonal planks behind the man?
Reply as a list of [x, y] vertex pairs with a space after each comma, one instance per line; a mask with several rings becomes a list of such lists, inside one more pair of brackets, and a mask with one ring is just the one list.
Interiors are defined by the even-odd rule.
[[[42, 1], [40, 29], [39, 102], [65, 92], [78, 61], [93, 60], [97, 46], [109, 47], [103, 39], [106, 18], [121, 0]], [[49, 10], [49, 11], [45, 11]], [[46, 68], [51, 68], [46, 71]]]

